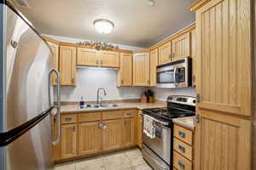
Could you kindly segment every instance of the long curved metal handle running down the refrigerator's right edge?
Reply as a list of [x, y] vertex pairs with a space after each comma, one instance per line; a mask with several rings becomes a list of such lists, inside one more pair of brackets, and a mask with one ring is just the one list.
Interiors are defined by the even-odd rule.
[[48, 77], [48, 96], [49, 96], [49, 105], [51, 104], [51, 98], [50, 98], [50, 83], [51, 83], [51, 74], [55, 73], [56, 75], [56, 80], [57, 80], [57, 105], [54, 105], [54, 107], [57, 109], [57, 127], [58, 127], [58, 135], [57, 135], [57, 139], [55, 139], [52, 144], [56, 145], [59, 144], [59, 142], [61, 141], [61, 94], [60, 94], [60, 88], [61, 88], [61, 77], [60, 77], [60, 73], [59, 71], [57, 71], [56, 69], [51, 69], [49, 71], [49, 77]]

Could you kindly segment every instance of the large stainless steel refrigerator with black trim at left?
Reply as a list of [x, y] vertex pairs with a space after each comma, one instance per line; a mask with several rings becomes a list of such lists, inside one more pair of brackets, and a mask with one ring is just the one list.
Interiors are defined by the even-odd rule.
[[[49, 45], [9, 2], [0, 1], [0, 169], [53, 169], [61, 138], [60, 91], [53, 105]], [[57, 116], [56, 139], [51, 120]]]

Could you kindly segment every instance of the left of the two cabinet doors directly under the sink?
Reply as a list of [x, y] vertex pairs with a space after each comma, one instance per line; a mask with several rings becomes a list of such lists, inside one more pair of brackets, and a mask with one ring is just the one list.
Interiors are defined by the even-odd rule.
[[79, 123], [79, 156], [102, 150], [102, 128], [100, 122]]

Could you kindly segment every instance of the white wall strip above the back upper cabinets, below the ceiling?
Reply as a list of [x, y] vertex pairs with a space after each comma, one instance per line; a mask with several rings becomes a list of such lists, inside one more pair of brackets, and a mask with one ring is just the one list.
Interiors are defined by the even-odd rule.
[[[82, 41], [91, 41], [91, 40], [84, 40], [84, 39], [79, 39], [79, 38], [73, 38], [73, 37], [61, 37], [61, 36], [53, 36], [53, 35], [48, 35], [44, 34], [46, 37], [50, 37], [52, 39], [55, 39], [58, 42], [70, 42], [70, 43], [76, 43], [76, 42], [82, 42]], [[111, 43], [111, 42], [110, 42]], [[144, 49], [140, 47], [135, 47], [135, 46], [130, 46], [130, 45], [123, 45], [123, 44], [116, 44], [113, 43], [114, 45], [118, 45], [120, 49], [128, 49], [128, 50], [137, 50], [137, 49]]]

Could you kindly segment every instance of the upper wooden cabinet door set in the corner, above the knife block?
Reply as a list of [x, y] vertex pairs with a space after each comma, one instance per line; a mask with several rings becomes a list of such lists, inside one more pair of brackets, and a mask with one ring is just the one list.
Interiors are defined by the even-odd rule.
[[133, 54], [133, 85], [149, 86], [149, 54]]

